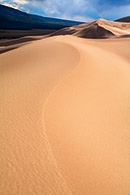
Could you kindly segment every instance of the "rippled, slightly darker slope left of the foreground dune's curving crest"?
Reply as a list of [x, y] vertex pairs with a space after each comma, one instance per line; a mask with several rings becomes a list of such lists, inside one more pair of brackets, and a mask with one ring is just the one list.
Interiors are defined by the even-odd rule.
[[0, 195], [70, 195], [48, 142], [42, 112], [50, 91], [79, 61], [56, 38], [0, 56]]

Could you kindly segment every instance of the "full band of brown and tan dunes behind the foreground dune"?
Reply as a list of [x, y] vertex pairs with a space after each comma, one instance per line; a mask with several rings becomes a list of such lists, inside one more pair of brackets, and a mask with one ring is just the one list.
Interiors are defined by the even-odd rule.
[[[127, 18], [122, 18], [119, 21], [125, 21]], [[22, 38], [12, 40], [0, 41], [0, 54], [8, 52], [13, 49], [17, 49], [31, 41], [40, 40], [43, 38], [57, 36], [57, 35], [74, 35], [81, 38], [94, 38], [94, 39], [106, 39], [106, 38], [129, 38], [130, 37], [130, 23], [128, 22], [111, 22], [104, 19], [98, 19], [96, 21], [81, 24], [73, 27], [66, 27], [61, 30], [57, 30], [53, 33], [43, 36], [25, 36]]]

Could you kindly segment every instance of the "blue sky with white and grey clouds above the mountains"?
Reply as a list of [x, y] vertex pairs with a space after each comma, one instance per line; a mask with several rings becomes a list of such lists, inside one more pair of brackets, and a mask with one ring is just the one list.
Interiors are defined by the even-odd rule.
[[0, 3], [32, 14], [83, 22], [130, 15], [130, 0], [0, 0]]

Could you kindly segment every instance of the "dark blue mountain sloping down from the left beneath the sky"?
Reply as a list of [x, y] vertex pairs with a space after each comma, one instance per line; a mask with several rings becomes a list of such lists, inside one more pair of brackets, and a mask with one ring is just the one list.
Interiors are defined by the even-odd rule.
[[58, 30], [64, 27], [74, 26], [82, 22], [62, 20], [28, 14], [11, 7], [0, 5], [0, 29], [31, 30], [48, 29]]

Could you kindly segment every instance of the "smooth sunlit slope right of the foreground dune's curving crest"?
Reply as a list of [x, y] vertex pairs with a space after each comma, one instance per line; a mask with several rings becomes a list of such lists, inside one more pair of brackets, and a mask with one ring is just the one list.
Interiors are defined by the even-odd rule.
[[80, 63], [45, 106], [57, 163], [74, 195], [128, 195], [130, 65], [94, 41], [65, 40], [79, 51]]

